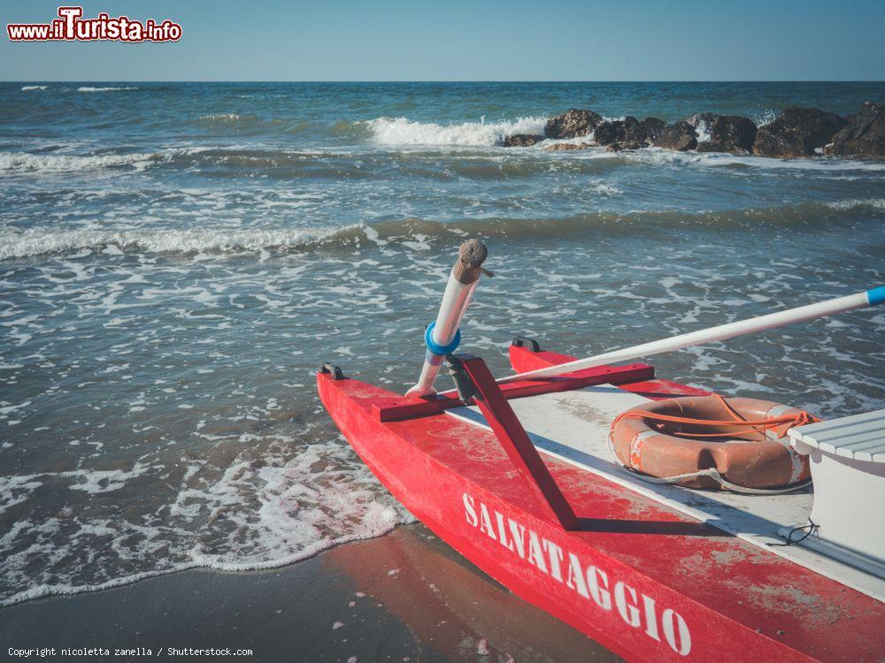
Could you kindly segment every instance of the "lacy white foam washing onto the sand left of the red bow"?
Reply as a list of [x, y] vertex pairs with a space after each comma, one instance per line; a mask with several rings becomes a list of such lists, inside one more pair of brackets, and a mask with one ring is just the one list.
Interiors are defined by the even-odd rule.
[[[254, 443], [253, 436], [241, 438]], [[291, 454], [287, 447], [287, 454]], [[75, 529], [58, 518], [42, 522], [19, 520], [0, 536], [0, 572], [19, 591], [0, 599], [0, 606], [58, 594], [98, 591], [189, 568], [248, 571], [278, 568], [304, 560], [334, 545], [377, 537], [412, 515], [380, 492], [366, 466], [348, 446], [317, 443], [299, 450], [289, 461], [268, 457], [264, 467], [235, 459], [210, 484], [196, 478], [199, 466], [182, 479], [169, 517], [175, 523], [208, 522], [198, 532], [172, 523], [135, 524], [118, 518], [76, 519]], [[162, 468], [161, 468], [162, 469]], [[72, 490], [117, 491], [128, 479], [150, 475], [156, 468], [136, 465], [131, 471], [73, 470], [34, 476], [0, 476], [0, 499], [18, 504], [44, 481], [70, 481]], [[0, 505], [2, 506], [2, 505]], [[212, 523], [223, 522], [218, 530]], [[228, 531], [229, 529], [229, 531]], [[61, 533], [67, 531], [67, 535]], [[220, 532], [226, 532], [221, 534]], [[74, 560], [83, 546], [107, 551], [114, 563], [126, 562], [128, 573], [72, 563], [65, 571], [35, 560]], [[152, 564], [130, 564], [153, 558]], [[32, 569], [35, 567], [32, 567]], [[85, 572], [84, 572], [85, 571]]]

